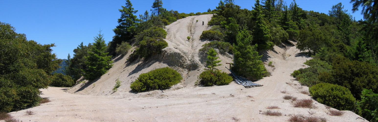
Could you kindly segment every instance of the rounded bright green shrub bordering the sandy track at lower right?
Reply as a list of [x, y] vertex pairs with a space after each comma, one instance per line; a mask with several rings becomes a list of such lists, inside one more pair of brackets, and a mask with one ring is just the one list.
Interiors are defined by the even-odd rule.
[[339, 85], [318, 83], [309, 88], [311, 96], [319, 103], [331, 106], [338, 110], [352, 110], [356, 99], [350, 91]]

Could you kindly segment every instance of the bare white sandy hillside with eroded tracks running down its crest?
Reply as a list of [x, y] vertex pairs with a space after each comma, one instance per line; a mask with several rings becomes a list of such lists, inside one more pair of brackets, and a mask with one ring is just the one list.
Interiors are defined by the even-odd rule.
[[[130, 83], [135, 81], [142, 73], [166, 66], [176, 69], [183, 76], [181, 83], [175, 85], [174, 89], [184, 86], [194, 87], [197, 76], [206, 66], [207, 54], [198, 50], [209, 41], [200, 40], [199, 38], [204, 30], [209, 29], [207, 23], [211, 20], [211, 17], [212, 14], [190, 16], [167, 25], [167, 37], [165, 40], [168, 43], [168, 47], [164, 48], [158, 56], [153, 56], [147, 61], [140, 62], [138, 60], [128, 62], [127, 57], [129, 55], [117, 57], [114, 59], [114, 65], [109, 69], [108, 73], [90, 83], [84, 80], [67, 90], [67, 92], [93, 95], [134, 95], [130, 93]], [[204, 25], [202, 25], [202, 21]], [[187, 40], [187, 36], [190, 36], [191, 39]], [[225, 63], [232, 62], [232, 55], [227, 53], [218, 54], [218, 56], [220, 57], [218, 60], [222, 60], [221, 63], [223, 64], [218, 66], [218, 69], [229, 73], [228, 69], [225, 68], [225, 66], [227, 68], [229, 66], [225, 65]], [[118, 78], [122, 83], [118, 91], [113, 93], [112, 89]]]

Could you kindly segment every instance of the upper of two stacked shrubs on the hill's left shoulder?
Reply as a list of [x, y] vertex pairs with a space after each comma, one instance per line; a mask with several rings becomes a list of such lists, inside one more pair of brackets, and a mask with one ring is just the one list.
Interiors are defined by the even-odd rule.
[[152, 27], [138, 33], [138, 35], [135, 36], [135, 41], [140, 42], [146, 37], [160, 37], [165, 39], [166, 36], [167, 32], [163, 28]]

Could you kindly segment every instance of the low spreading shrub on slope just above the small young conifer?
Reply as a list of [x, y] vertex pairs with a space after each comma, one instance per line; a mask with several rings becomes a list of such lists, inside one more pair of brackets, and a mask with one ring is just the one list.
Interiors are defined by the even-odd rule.
[[203, 48], [200, 49], [200, 51], [208, 51], [211, 48], [217, 48], [219, 51], [222, 52], [229, 52], [232, 53], [232, 49], [234, 48], [230, 43], [228, 42], [221, 42], [221, 41], [211, 41], [209, 43], [205, 43], [202, 45]]

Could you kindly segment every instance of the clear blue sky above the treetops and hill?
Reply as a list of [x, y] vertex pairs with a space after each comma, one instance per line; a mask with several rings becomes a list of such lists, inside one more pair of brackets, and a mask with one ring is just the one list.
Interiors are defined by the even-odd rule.
[[[130, 0], [139, 14], [150, 11], [153, 0]], [[260, 0], [261, 1], [261, 0]], [[341, 2], [352, 14], [350, 0], [296, 0], [304, 10], [328, 14], [332, 5]], [[236, 5], [252, 9], [254, 0], [234, 0]], [[286, 0], [290, 5], [291, 0]], [[178, 12], [206, 12], [215, 9], [219, 0], [163, 0], [163, 7]], [[68, 53], [81, 42], [93, 42], [93, 37], [102, 30], [106, 42], [112, 40], [114, 29], [120, 17], [125, 0], [1, 0], [0, 21], [9, 23], [16, 32], [26, 34], [28, 40], [41, 44], [55, 43], [53, 53], [59, 59], [67, 59]], [[363, 16], [352, 14], [356, 20]], [[139, 17], [139, 16], [138, 16]]]

